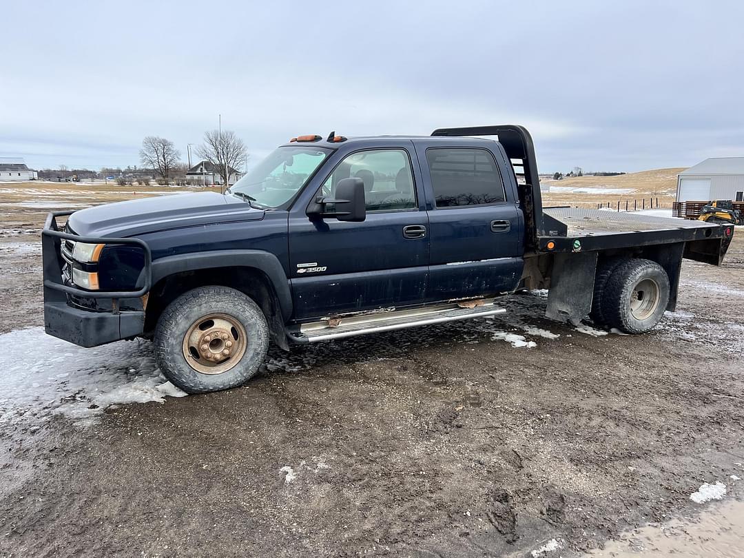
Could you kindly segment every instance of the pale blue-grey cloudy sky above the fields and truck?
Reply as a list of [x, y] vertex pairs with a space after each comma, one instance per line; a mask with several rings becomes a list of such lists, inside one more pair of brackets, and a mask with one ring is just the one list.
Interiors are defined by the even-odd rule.
[[[26, 1], [3, 7], [0, 156], [523, 124], [541, 172], [744, 156], [741, 1]], [[196, 161], [194, 161], [196, 162]]]

